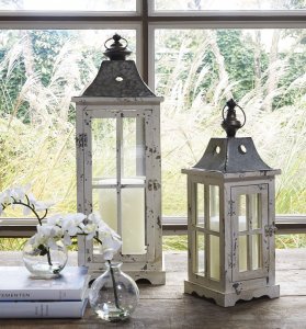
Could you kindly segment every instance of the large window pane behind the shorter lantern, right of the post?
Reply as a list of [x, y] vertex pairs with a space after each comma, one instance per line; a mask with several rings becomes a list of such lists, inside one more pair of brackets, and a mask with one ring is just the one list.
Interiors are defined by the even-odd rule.
[[253, 136], [261, 158], [272, 168], [282, 168], [276, 180], [276, 214], [306, 213], [302, 202], [306, 197], [306, 175], [302, 174], [306, 126], [301, 106], [306, 92], [305, 31], [155, 31], [156, 93], [165, 97], [161, 156], [167, 167], [163, 207], [168, 213], [172, 208], [173, 215], [181, 215], [178, 205], [185, 193], [185, 177], [179, 178], [177, 168], [194, 166], [212, 136], [225, 136], [217, 123], [230, 98], [252, 123], [243, 127], [245, 135]]

